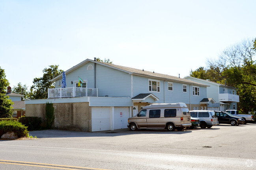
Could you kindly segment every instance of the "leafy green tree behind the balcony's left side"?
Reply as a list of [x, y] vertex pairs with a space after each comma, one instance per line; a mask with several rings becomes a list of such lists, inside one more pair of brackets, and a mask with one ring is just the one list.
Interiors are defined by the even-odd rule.
[[28, 92], [29, 99], [47, 99], [48, 89], [55, 88], [54, 82], [50, 82], [50, 80], [62, 74], [63, 70], [58, 69], [58, 65], [50, 65], [49, 67], [43, 69], [43, 77], [33, 80], [34, 85]]

